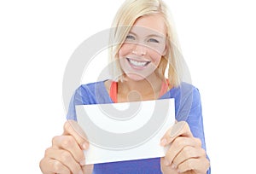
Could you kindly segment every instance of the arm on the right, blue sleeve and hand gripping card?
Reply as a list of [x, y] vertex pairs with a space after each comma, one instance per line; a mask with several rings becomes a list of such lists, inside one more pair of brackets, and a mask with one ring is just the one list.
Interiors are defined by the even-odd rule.
[[171, 144], [166, 157], [161, 159], [164, 173], [210, 173], [203, 131], [201, 99], [197, 89], [183, 94], [177, 119], [182, 118], [166, 132], [161, 145]]

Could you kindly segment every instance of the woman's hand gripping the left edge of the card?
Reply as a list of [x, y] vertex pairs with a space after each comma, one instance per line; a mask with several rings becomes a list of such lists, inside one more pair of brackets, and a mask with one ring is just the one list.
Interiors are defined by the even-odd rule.
[[77, 122], [67, 120], [61, 136], [52, 139], [52, 146], [45, 150], [40, 168], [44, 174], [74, 173], [83, 174], [92, 171], [92, 165], [85, 166], [83, 150], [89, 147], [84, 131]]

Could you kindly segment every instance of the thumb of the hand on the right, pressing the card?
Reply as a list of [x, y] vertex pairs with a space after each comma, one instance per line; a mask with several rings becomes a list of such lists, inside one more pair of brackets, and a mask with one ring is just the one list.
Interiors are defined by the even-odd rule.
[[188, 136], [193, 137], [189, 125], [185, 121], [179, 121], [177, 124], [172, 125], [172, 127], [166, 131], [165, 136], [161, 138], [160, 145], [166, 146], [170, 144], [177, 136]]

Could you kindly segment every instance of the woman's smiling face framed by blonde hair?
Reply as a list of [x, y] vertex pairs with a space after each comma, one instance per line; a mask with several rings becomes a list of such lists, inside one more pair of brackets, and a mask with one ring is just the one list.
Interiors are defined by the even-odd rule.
[[166, 25], [160, 14], [140, 17], [119, 49], [119, 62], [128, 78], [148, 78], [166, 54]]

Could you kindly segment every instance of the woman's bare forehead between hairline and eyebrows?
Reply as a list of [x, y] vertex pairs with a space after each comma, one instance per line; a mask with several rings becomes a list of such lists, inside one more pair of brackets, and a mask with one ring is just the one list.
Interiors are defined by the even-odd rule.
[[135, 21], [131, 32], [166, 36], [165, 20], [160, 14], [144, 15]]

